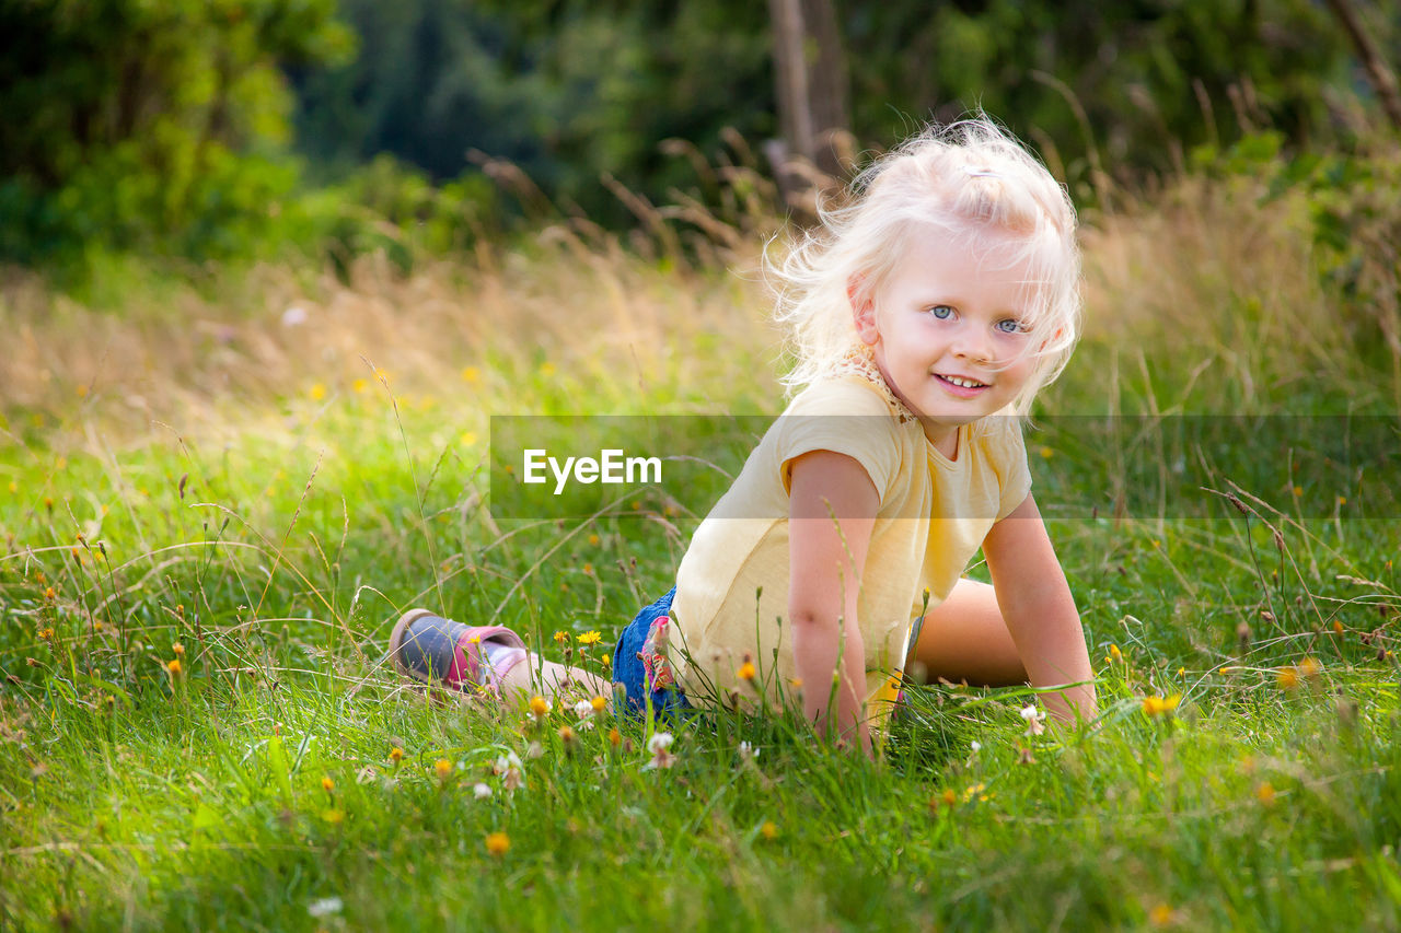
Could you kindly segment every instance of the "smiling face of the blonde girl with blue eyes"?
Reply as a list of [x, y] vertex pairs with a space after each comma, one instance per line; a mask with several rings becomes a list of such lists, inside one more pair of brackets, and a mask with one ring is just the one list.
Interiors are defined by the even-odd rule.
[[1000, 259], [1000, 237], [969, 240], [919, 237], [884, 286], [853, 305], [887, 385], [947, 457], [957, 455], [960, 424], [1010, 405], [1035, 370], [1021, 328], [1028, 263]]

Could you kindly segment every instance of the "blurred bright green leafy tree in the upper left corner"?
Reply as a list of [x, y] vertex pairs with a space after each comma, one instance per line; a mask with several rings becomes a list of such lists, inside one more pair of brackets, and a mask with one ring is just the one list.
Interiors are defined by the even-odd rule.
[[335, 0], [3, 0], [0, 256], [219, 255], [296, 184], [279, 63], [346, 59]]

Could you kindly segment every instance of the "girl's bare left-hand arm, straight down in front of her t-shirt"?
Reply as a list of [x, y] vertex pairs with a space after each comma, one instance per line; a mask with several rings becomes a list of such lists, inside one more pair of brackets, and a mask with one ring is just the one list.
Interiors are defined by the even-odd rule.
[[870, 728], [862, 712], [866, 646], [856, 597], [880, 496], [859, 462], [828, 450], [796, 458], [789, 489], [789, 621], [803, 712], [818, 728], [831, 721], [828, 699], [841, 656], [836, 733], [870, 755]]

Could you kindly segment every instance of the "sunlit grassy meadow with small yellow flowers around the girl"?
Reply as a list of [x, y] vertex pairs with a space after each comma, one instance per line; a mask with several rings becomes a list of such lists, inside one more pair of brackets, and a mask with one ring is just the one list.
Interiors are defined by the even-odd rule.
[[1087, 336], [1028, 448], [1103, 716], [1027, 735], [1026, 691], [929, 686], [876, 763], [709, 714], [649, 768], [639, 723], [384, 660], [429, 605], [601, 670], [709, 503], [496, 521], [488, 419], [780, 410], [757, 237], [126, 270], [84, 304], [11, 275], [0, 927], [1401, 925], [1393, 500], [1248, 437], [1192, 502], [1125, 500], [1056, 420], [1394, 417], [1386, 322], [1339, 322], [1295, 220], [1199, 181], [1087, 219]]

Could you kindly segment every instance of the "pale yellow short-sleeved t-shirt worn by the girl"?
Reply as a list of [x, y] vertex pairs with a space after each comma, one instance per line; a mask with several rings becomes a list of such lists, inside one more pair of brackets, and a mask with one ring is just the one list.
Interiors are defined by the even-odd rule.
[[[736, 691], [752, 706], [758, 684], [766, 684], [769, 703], [793, 702], [785, 621], [789, 482], [793, 459], [814, 450], [856, 459], [880, 495], [857, 598], [866, 700], [876, 720], [888, 713], [891, 675], [905, 663], [923, 591], [930, 607], [941, 602], [992, 525], [1031, 489], [1021, 427], [1010, 413], [960, 427], [950, 461], [873, 366], [856, 361], [814, 382], [750, 454], [677, 570], [672, 639], [684, 651], [672, 651], [671, 661], [692, 703]], [[752, 684], [737, 677], [745, 656], [758, 670]]]

